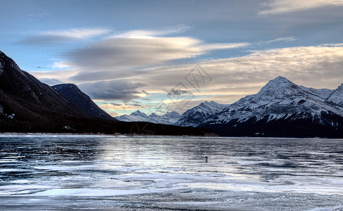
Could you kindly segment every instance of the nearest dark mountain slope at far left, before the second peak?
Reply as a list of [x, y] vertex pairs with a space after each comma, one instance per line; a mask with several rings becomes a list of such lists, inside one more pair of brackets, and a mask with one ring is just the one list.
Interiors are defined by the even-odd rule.
[[54, 89], [20, 70], [1, 51], [0, 108], [0, 129], [7, 131], [62, 130], [79, 124], [80, 118], [84, 122], [91, 119]]

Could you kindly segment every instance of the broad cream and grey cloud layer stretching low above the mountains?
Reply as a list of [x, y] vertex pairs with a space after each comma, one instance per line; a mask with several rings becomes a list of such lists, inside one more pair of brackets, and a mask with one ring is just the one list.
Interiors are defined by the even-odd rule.
[[[296, 41], [297, 38], [279, 37], [269, 41], [207, 44], [194, 37], [157, 37], [182, 32], [188, 28], [186, 25], [178, 25], [160, 30], [133, 30], [103, 37], [84, 48], [62, 53], [65, 60], [54, 63], [53, 68], [66, 70], [32, 73], [49, 84], [79, 84], [80, 89], [91, 98], [121, 101], [124, 102], [121, 106], [127, 109], [151, 107], [151, 101], [132, 102], [146, 96], [164, 98], [164, 103], [169, 103], [169, 106], [173, 104], [171, 95], [186, 98], [191, 95], [187, 106], [195, 106], [205, 100], [232, 103], [243, 96], [256, 93], [268, 80], [279, 75], [297, 84], [315, 88], [334, 89], [343, 82], [343, 44], [326, 44], [250, 50], [245, 51], [246, 56], [212, 58], [198, 62], [212, 80], [210, 83], [200, 82], [200, 86], [197, 86], [200, 89], [194, 89], [194, 84], [186, 77], [196, 63], [193, 61], [182, 64], [178, 63], [178, 60], [198, 58], [210, 51], [254, 49], [254, 46]], [[86, 39], [101, 34], [110, 32], [101, 29], [56, 30], [44, 32], [39, 36], [49, 39], [54, 36]], [[171, 63], [174, 65], [170, 65]], [[195, 79], [196, 75], [192, 74], [190, 76]], [[177, 84], [182, 84], [183, 87], [177, 87]], [[318, 84], [323, 87], [318, 87]], [[113, 106], [108, 104], [108, 110], [113, 109]], [[118, 108], [118, 105], [115, 107]], [[184, 110], [189, 108], [181, 107]]]

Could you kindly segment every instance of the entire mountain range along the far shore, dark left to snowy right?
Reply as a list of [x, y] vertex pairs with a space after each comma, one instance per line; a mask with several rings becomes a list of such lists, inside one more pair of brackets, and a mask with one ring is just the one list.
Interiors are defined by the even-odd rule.
[[343, 84], [313, 89], [276, 77], [232, 104], [205, 101], [182, 115], [138, 110], [113, 118], [75, 84], [49, 87], [0, 51], [0, 132], [342, 138]]

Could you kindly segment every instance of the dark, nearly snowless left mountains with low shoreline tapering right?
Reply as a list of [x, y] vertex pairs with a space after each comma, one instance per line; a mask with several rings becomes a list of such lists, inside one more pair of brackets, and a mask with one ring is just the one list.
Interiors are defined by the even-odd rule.
[[195, 135], [209, 129], [147, 122], [119, 122], [75, 84], [53, 87], [21, 70], [0, 51], [0, 132]]

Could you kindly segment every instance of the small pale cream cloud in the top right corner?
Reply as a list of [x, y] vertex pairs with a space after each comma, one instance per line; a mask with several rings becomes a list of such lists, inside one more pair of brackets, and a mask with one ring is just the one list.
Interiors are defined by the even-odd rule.
[[327, 6], [343, 6], [342, 0], [270, 0], [262, 4], [265, 8], [260, 11], [260, 15], [273, 15], [279, 13], [292, 13], [295, 11], [307, 11], [313, 8], [323, 8]]

